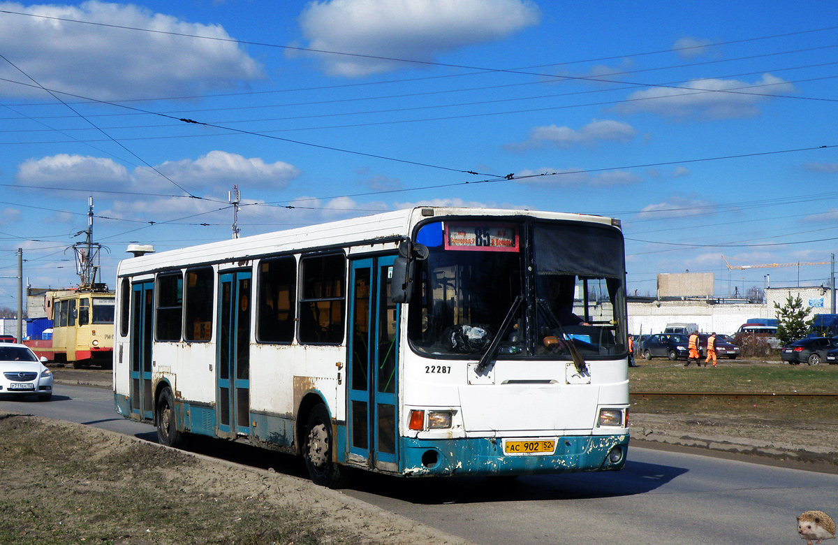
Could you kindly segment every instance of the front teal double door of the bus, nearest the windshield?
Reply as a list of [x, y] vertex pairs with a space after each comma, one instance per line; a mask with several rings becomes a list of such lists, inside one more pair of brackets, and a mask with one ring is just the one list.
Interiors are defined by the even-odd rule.
[[396, 362], [399, 305], [391, 299], [395, 256], [352, 262], [349, 327], [349, 461], [397, 471]]

